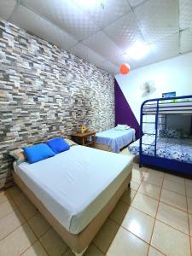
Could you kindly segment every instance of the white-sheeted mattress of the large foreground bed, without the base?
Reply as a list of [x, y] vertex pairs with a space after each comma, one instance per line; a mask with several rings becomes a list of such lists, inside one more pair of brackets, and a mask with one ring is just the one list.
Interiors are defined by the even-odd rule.
[[129, 175], [132, 158], [75, 146], [34, 164], [15, 164], [15, 173], [54, 217], [79, 234]]

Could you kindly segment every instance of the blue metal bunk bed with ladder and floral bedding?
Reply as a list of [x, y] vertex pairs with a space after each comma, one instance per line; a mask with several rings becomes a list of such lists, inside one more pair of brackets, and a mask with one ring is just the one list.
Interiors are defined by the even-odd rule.
[[[132, 154], [139, 155], [139, 166], [157, 166], [192, 177], [192, 137], [182, 137], [179, 130], [168, 128], [167, 119], [170, 115], [192, 117], [192, 96], [157, 98], [143, 102], [140, 138], [128, 148]], [[177, 121], [179, 123], [179, 119]], [[154, 125], [154, 129], [145, 131], [145, 125]]]

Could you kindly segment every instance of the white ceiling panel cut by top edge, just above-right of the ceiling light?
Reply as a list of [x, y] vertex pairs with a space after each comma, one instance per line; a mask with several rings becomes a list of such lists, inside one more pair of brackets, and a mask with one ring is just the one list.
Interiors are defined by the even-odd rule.
[[178, 32], [178, 0], [148, 0], [134, 12], [149, 43]]

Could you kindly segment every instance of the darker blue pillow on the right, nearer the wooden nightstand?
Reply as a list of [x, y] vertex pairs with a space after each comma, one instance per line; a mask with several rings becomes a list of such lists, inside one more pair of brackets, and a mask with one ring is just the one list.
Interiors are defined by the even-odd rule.
[[62, 137], [55, 137], [54, 139], [49, 140], [47, 144], [55, 154], [67, 151], [70, 148], [68, 143]]

